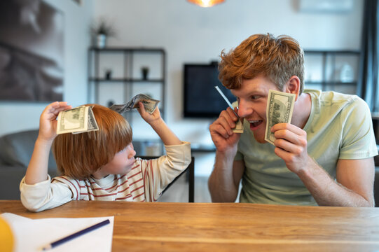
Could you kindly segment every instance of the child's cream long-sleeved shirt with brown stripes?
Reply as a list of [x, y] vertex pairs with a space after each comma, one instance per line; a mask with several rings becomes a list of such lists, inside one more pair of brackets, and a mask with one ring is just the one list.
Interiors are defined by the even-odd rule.
[[165, 187], [191, 162], [189, 143], [165, 148], [166, 155], [160, 158], [136, 158], [128, 174], [80, 180], [57, 176], [51, 182], [49, 177], [34, 185], [27, 185], [22, 179], [22, 204], [30, 211], [43, 211], [71, 200], [155, 202]]

